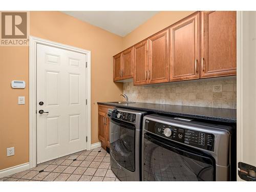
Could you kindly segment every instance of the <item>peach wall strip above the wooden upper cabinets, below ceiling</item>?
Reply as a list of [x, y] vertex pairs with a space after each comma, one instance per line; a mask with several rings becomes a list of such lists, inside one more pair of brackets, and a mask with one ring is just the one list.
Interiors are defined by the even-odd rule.
[[161, 11], [123, 37], [123, 50], [178, 22], [195, 11]]

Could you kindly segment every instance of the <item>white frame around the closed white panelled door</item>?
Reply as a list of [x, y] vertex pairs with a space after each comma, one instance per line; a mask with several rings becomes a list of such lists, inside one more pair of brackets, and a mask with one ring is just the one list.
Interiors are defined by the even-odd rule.
[[36, 45], [46, 45], [87, 55], [86, 68], [86, 149], [91, 148], [91, 51], [29, 36], [29, 167], [36, 166]]

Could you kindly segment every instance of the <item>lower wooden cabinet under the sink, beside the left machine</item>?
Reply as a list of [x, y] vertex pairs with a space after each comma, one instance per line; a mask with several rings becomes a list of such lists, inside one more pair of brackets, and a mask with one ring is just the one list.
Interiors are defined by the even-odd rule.
[[114, 106], [98, 105], [98, 138], [104, 150], [106, 150], [106, 147], [110, 148], [110, 120], [108, 118], [108, 109], [110, 108], [114, 108]]

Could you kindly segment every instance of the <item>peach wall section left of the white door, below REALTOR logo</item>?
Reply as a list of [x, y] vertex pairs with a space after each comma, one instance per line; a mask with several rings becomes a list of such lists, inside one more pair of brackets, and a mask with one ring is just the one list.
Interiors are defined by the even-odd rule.
[[[29, 160], [29, 50], [0, 47], [0, 170]], [[26, 88], [12, 89], [12, 80], [25, 80]], [[17, 105], [25, 96], [25, 105]], [[6, 148], [15, 147], [15, 156], [6, 157]]]

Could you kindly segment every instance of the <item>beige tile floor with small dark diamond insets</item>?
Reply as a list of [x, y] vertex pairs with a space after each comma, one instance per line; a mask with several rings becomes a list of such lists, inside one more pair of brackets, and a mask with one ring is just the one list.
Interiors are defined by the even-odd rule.
[[0, 181], [119, 181], [110, 167], [110, 155], [99, 147], [37, 165]]

